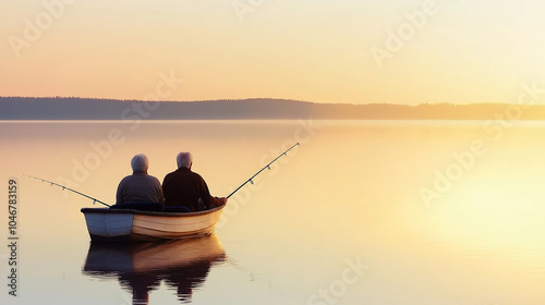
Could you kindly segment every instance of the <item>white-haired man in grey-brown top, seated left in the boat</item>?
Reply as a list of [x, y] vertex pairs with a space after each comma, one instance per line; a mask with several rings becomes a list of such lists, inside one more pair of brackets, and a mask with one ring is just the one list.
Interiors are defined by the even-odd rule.
[[[156, 203], [162, 206], [164, 195], [159, 180], [147, 174], [149, 161], [144, 154], [134, 156], [131, 160], [133, 174], [121, 180], [116, 194], [116, 204]], [[119, 206], [118, 206], [119, 207]]]

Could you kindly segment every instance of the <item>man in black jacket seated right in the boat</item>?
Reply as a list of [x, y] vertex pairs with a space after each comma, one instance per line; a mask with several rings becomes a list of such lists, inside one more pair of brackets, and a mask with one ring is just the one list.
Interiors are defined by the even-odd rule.
[[167, 174], [162, 181], [165, 206], [186, 207], [189, 211], [205, 210], [221, 206], [227, 198], [210, 196], [204, 179], [193, 171], [193, 157], [190, 152], [177, 156], [178, 170]]

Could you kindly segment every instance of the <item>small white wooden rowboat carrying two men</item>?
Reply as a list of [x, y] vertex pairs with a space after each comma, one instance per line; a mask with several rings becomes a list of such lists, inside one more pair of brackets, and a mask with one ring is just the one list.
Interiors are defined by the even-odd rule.
[[196, 212], [83, 208], [93, 242], [160, 241], [214, 232], [225, 205]]

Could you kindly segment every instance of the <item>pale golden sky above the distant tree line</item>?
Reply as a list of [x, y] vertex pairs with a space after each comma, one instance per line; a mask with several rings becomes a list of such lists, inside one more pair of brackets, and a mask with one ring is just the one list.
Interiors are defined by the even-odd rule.
[[[540, 0], [0, 2], [0, 96], [514, 102]], [[183, 80], [183, 82], [182, 82]]]

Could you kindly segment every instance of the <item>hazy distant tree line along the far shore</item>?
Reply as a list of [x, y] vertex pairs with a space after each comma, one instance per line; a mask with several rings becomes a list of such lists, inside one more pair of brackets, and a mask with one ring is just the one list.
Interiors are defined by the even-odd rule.
[[142, 101], [0, 97], [0, 120], [544, 120], [545, 106], [317, 103], [287, 99]]

